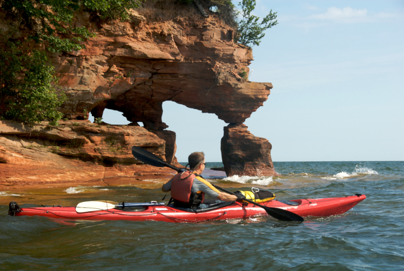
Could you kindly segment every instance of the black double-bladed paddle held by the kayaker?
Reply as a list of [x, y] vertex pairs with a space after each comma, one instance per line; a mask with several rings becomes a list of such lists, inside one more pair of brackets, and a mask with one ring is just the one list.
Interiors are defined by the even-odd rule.
[[[144, 149], [142, 149], [140, 147], [133, 146], [132, 147], [132, 154], [137, 160], [139, 160], [140, 162], [143, 162], [145, 164], [148, 164], [148, 165], [151, 165], [151, 166], [157, 166], [157, 167], [166, 166], [166, 167], [169, 167], [171, 169], [176, 170], [178, 173], [182, 172], [181, 169], [164, 162], [162, 159], [160, 159], [159, 157], [157, 157], [153, 153], [150, 153], [150, 152], [148, 152], [148, 151], [146, 151], [146, 150], [144, 150]], [[216, 187], [217, 189], [222, 190], [223, 192], [229, 193], [231, 195], [236, 195], [235, 193], [227, 191], [224, 188], [218, 187], [216, 185], [213, 185], [213, 186]], [[301, 217], [300, 215], [297, 215], [295, 213], [292, 213], [290, 211], [283, 210], [283, 209], [280, 209], [280, 208], [267, 207], [267, 206], [258, 204], [258, 203], [254, 202], [252, 200], [247, 200], [247, 199], [244, 199], [244, 200], [251, 203], [251, 204], [254, 204], [254, 205], [257, 205], [257, 206], [263, 208], [270, 216], [272, 216], [272, 217], [274, 217], [276, 219], [279, 219], [279, 220], [282, 220], [282, 221], [300, 221], [300, 222], [304, 221], [303, 217]]]

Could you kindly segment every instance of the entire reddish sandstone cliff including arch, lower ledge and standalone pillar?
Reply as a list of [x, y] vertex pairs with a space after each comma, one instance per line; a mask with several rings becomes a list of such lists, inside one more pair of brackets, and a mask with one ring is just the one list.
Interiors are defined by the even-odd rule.
[[[51, 56], [59, 87], [68, 98], [60, 111], [70, 121], [59, 127], [1, 122], [0, 181], [33, 182], [29, 176], [35, 174], [49, 182], [99, 179], [103, 172], [153, 174], [153, 168], [131, 157], [130, 147], [144, 147], [176, 162], [175, 132], [162, 122], [165, 101], [215, 113], [231, 124], [235, 132], [225, 131], [222, 139], [228, 175], [276, 174], [271, 144], [249, 149], [251, 144], [263, 146], [264, 139], [255, 138], [242, 125], [268, 99], [272, 84], [244, 81], [237, 75], [242, 69], [248, 73], [252, 52], [233, 42], [233, 29], [217, 14], [207, 13], [205, 18], [193, 5], [158, 0], [133, 11], [130, 22], [92, 22], [89, 14], [77, 14], [75, 26], [86, 26], [96, 36], [85, 42], [84, 50]], [[86, 121], [89, 112], [102, 117], [106, 108], [122, 112], [131, 124]], [[233, 144], [240, 140], [238, 130], [248, 134], [242, 141], [250, 145]], [[262, 153], [265, 159], [259, 158]], [[240, 162], [244, 156], [249, 163]], [[45, 168], [53, 170], [48, 177], [41, 176]]]

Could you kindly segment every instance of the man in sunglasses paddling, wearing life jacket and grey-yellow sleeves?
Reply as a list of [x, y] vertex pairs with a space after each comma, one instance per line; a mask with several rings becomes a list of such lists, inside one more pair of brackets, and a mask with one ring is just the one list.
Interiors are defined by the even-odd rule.
[[[163, 192], [171, 190], [171, 200], [174, 207], [197, 209], [204, 202], [205, 194], [221, 201], [236, 201], [245, 199], [241, 194], [238, 196], [220, 192], [206, 179], [199, 176], [206, 165], [205, 154], [194, 152], [188, 156], [189, 171], [178, 173], [169, 182], [163, 185]], [[206, 205], [206, 204], [204, 204]], [[208, 207], [208, 206], [200, 207]]]

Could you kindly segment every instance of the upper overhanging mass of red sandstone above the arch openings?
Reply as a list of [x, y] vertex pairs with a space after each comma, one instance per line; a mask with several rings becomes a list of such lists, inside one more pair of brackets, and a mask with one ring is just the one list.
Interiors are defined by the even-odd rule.
[[68, 96], [61, 107], [65, 117], [101, 117], [108, 108], [163, 130], [162, 104], [174, 101], [242, 123], [268, 99], [271, 83], [240, 81], [237, 73], [248, 73], [251, 50], [233, 42], [233, 29], [215, 13], [204, 18], [193, 5], [174, 0], [145, 6], [142, 15], [133, 11], [132, 22], [77, 20], [96, 36], [86, 49], [52, 58]]

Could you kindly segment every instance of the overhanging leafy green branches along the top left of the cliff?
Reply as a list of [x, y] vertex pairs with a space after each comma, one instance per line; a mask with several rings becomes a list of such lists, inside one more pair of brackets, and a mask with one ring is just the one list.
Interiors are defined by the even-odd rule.
[[101, 20], [128, 20], [129, 9], [140, 0], [4, 0], [2, 9], [33, 33], [29, 38], [43, 43], [50, 52], [84, 48], [80, 41], [92, 36], [85, 27], [72, 27], [74, 12], [88, 11]]

